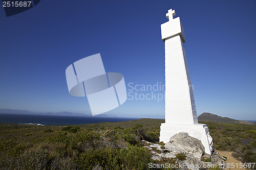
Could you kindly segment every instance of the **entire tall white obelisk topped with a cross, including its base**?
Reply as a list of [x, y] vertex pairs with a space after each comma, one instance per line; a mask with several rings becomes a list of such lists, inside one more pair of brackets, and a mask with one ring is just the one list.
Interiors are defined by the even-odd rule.
[[160, 127], [160, 141], [164, 143], [180, 132], [202, 141], [205, 152], [212, 153], [212, 138], [205, 124], [198, 124], [186, 53], [184, 29], [175, 10], [168, 10], [169, 21], [161, 25], [165, 44], [165, 123]]

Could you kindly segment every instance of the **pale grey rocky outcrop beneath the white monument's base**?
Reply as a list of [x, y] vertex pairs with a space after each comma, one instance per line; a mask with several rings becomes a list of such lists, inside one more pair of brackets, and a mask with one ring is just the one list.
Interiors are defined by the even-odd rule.
[[[225, 160], [218, 152], [213, 152], [208, 155], [204, 152], [204, 146], [200, 140], [191, 137], [188, 133], [177, 133], [170, 138], [170, 141], [164, 146], [144, 141], [147, 146], [144, 146], [152, 154], [153, 160], [161, 160], [162, 158], [174, 158], [176, 154], [184, 153], [186, 160], [177, 160], [185, 169], [199, 170], [209, 167], [219, 166]], [[204, 160], [211, 162], [204, 162]]]

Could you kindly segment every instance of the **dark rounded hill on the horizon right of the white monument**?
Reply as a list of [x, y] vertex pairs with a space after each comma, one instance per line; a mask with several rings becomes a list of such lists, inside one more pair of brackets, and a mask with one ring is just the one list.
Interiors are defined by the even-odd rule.
[[224, 123], [224, 124], [247, 124], [247, 125], [255, 125], [252, 122], [248, 122], [245, 120], [236, 120], [228, 117], [221, 117], [212, 113], [202, 113], [198, 116], [198, 121], [201, 122], [215, 122], [215, 123]]

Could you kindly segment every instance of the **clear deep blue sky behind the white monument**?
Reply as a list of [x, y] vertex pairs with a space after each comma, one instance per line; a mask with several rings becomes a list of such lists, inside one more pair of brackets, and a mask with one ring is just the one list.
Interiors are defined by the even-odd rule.
[[[165, 13], [170, 8], [184, 27], [197, 114], [255, 120], [254, 0], [42, 0], [10, 17], [1, 7], [0, 109], [90, 114], [87, 98], [69, 94], [65, 70], [97, 53], [106, 72], [124, 76], [127, 92], [132, 89], [129, 83], [133, 87], [164, 84], [160, 25], [167, 21]], [[123, 105], [106, 114], [164, 117], [164, 100], [131, 98], [128, 95]]]

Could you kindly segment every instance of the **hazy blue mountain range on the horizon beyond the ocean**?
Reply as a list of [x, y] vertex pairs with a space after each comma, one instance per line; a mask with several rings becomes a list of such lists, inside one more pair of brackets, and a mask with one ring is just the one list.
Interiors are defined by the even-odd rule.
[[[72, 113], [72, 112], [47, 112], [47, 113], [39, 113], [39, 112], [31, 112], [27, 110], [12, 110], [12, 109], [0, 109], [0, 113], [8, 113], [8, 114], [37, 114], [37, 115], [59, 115], [59, 116], [92, 116], [91, 114], [83, 114], [83, 113]], [[98, 114], [96, 117], [116, 117], [110, 116], [106, 114]]]

